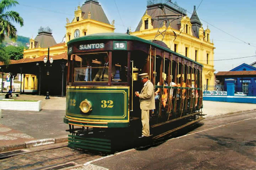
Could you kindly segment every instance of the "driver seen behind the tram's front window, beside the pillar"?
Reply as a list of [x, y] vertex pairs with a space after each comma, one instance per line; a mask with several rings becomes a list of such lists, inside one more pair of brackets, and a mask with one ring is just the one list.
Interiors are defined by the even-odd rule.
[[[104, 56], [104, 67], [100, 68], [97, 74], [95, 75], [93, 81], [108, 81], [108, 64], [109, 64], [109, 59], [108, 56]], [[114, 78], [114, 75], [116, 73], [115, 66], [112, 65], [111, 69], [111, 77]]]

